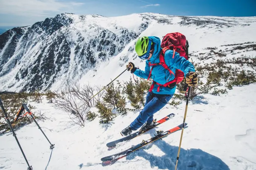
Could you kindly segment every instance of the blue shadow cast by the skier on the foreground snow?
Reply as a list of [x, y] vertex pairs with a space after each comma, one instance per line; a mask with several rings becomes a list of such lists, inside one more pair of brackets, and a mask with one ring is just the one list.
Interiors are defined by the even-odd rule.
[[[145, 150], [150, 149], [153, 144], [161, 149], [165, 155], [155, 156], [154, 154], [147, 153]], [[159, 169], [174, 170], [177, 160], [177, 153], [177, 146], [172, 146], [166, 143], [164, 140], [157, 140], [126, 156], [126, 160], [132, 160], [136, 156], [140, 156], [148, 160], [152, 168], [158, 167]], [[204, 152], [201, 149], [186, 150], [181, 148], [179, 157], [178, 169], [180, 170], [230, 170], [221, 159]], [[102, 166], [112, 165], [115, 162], [117, 162], [117, 160], [108, 163], [102, 162]]]

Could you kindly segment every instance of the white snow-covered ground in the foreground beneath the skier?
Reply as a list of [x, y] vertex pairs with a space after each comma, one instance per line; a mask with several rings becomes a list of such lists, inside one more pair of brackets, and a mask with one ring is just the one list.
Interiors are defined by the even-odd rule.
[[[234, 87], [221, 96], [202, 95], [189, 102], [181, 145], [179, 170], [255, 170], [255, 119], [256, 84]], [[248, 95], [250, 94], [250, 95]], [[241, 100], [239, 100], [241, 99]], [[37, 170], [129, 170], [175, 168], [180, 132], [175, 132], [119, 159], [111, 165], [102, 164], [100, 159], [128, 149], [156, 134], [156, 130], [166, 131], [182, 123], [185, 102], [180, 109], [166, 105], [154, 115], [161, 119], [169, 113], [175, 117], [155, 129], [119, 143], [108, 149], [106, 143], [121, 138], [120, 130], [129, 125], [139, 114], [130, 112], [127, 116], [117, 116], [109, 125], [99, 125], [99, 119], [86, 123], [84, 128], [69, 124], [67, 113], [55, 110], [52, 104], [43, 100], [42, 104], [30, 103], [36, 110], [46, 112], [53, 121], [39, 121], [55, 148], [32, 123], [17, 131], [18, 140], [27, 159]], [[200, 110], [200, 111], [195, 111]], [[55, 120], [54, 120], [55, 119]], [[27, 165], [12, 134], [0, 137], [0, 167], [6, 170], [26, 169]]]

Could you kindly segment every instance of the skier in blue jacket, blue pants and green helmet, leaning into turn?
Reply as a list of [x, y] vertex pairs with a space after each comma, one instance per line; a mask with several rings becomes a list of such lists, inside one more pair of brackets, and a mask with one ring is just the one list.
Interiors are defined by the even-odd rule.
[[[145, 71], [136, 68], [132, 62], [126, 65], [127, 71], [141, 78], [152, 78], [155, 83], [151, 86], [146, 96], [145, 107], [140, 112], [139, 116], [120, 132], [121, 135], [130, 135], [132, 131], [139, 129], [141, 126], [142, 131], [154, 126], [153, 114], [163, 108], [175, 93], [176, 83], [171, 83], [171, 81], [175, 78], [174, 74], [176, 69], [181, 70], [184, 72], [184, 75], [187, 75], [186, 84], [188, 86], [197, 86], [198, 84], [197, 73], [192, 63], [184, 57], [181, 57], [179, 53], [174, 53], [173, 50], [165, 51], [164, 60], [169, 71], [174, 74], [170, 74], [170, 72], [161, 65], [155, 65], [152, 69], [152, 63], [160, 63], [160, 53], [163, 50], [160, 45], [160, 38], [155, 36], [143, 36], [139, 38], [135, 44], [135, 51], [140, 59], [146, 60]], [[168, 82], [171, 84], [167, 87], [162, 85], [168, 84]]]

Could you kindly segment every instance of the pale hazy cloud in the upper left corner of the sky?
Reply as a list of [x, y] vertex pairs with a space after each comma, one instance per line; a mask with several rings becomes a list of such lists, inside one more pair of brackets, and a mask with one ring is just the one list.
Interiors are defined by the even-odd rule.
[[0, 0], [0, 14], [22, 16], [46, 16], [50, 12], [72, 10], [84, 3], [61, 2], [58, 0]]

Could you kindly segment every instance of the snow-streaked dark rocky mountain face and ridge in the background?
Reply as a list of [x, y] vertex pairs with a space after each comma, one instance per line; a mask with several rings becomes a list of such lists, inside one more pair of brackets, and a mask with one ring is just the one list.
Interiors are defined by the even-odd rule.
[[[0, 35], [0, 90], [46, 90], [56, 81], [79, 80], [89, 70], [96, 72], [102, 62], [119, 57], [126, 45], [127, 53], [136, 58], [134, 42], [151, 27], [194, 27], [222, 32], [232, 27], [248, 27], [255, 21], [254, 17], [177, 17], [152, 13], [111, 18], [56, 15]], [[120, 60], [121, 65], [127, 62], [123, 56]]]

